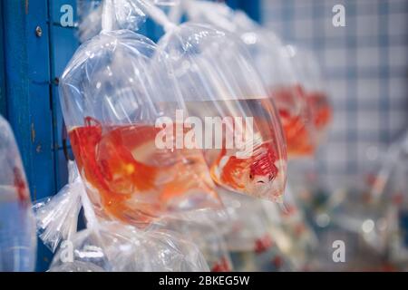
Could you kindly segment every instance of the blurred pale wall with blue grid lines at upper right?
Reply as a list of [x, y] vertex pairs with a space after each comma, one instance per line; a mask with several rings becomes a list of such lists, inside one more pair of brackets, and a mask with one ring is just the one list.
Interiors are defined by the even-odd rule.
[[[345, 5], [346, 27], [332, 24], [336, 4]], [[314, 167], [322, 179], [335, 183], [375, 167], [408, 128], [408, 1], [263, 0], [262, 17], [323, 66], [335, 120]]]

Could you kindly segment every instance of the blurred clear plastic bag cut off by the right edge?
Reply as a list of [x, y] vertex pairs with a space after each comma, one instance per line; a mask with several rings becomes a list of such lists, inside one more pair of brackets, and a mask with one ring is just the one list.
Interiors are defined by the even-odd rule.
[[[383, 151], [383, 150], [380, 150]], [[394, 266], [408, 263], [408, 132], [375, 162], [374, 172], [348, 189], [333, 222], [358, 234]], [[350, 181], [348, 183], [351, 183]]]

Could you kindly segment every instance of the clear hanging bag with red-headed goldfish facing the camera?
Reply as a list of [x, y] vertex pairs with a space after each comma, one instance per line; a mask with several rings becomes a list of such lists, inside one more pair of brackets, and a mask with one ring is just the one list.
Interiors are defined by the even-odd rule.
[[[231, 36], [225, 36], [224, 33], [218, 32], [216, 29], [190, 24], [184, 24], [176, 28], [174, 24], [170, 24], [166, 16], [160, 10], [154, 9], [148, 2], [139, 1], [138, 5], [146, 9], [148, 14], [154, 20], [162, 24], [165, 31], [169, 32], [160, 43], [164, 51], [169, 53], [169, 51], [172, 50], [169, 61], [171, 64], [174, 64], [174, 66], [172, 66], [173, 68], [178, 69], [175, 76], [181, 84], [182, 97], [184, 101], [187, 102], [185, 115], [189, 115], [193, 118], [199, 117], [202, 121], [204, 121], [205, 117], [243, 118], [248, 116], [249, 118], [253, 118], [254, 115], [257, 115], [257, 120], [255, 121], [257, 129], [255, 132], [247, 130], [246, 128], [243, 129], [245, 126], [239, 126], [238, 122], [232, 124], [232, 127], [238, 127], [238, 130], [234, 129], [234, 131], [245, 131], [244, 135], [247, 133], [248, 135], [259, 135], [259, 131], [264, 132], [264, 136], [255, 136], [254, 139], [256, 140], [252, 140], [251, 143], [255, 143], [252, 144], [255, 146], [255, 150], [250, 150], [250, 158], [243, 158], [237, 161], [235, 159], [236, 152], [231, 152], [230, 150], [221, 150], [221, 152], [219, 152], [220, 154], [218, 154], [219, 156], [217, 156], [217, 152], [214, 150], [210, 153], [207, 152], [209, 153], [207, 154], [209, 164], [212, 166], [212, 177], [229, 189], [239, 189], [239, 191], [257, 195], [258, 197], [279, 199], [285, 187], [286, 149], [283, 145], [284, 140], [281, 136], [281, 128], [277, 121], [277, 113], [275, 112], [274, 105], [267, 101], [267, 93], [255, 69], [248, 60], [245, 59], [248, 55], [242, 52], [242, 47], [239, 47], [235, 39]], [[201, 33], [206, 34], [206, 36], [201, 37]], [[178, 39], [178, 34], [181, 36], [180, 39]], [[200, 42], [192, 45], [189, 52], [184, 54], [182, 50], [189, 46], [189, 37], [199, 37]], [[171, 40], [172, 38], [173, 40]], [[167, 44], [168, 40], [170, 40], [169, 45]], [[173, 41], [177, 47], [175, 47], [175, 50], [171, 48], [171, 42]], [[212, 41], [218, 41], [219, 46], [210, 45]], [[187, 45], [184, 46], [184, 44]], [[221, 56], [222, 52], [225, 52], [223, 46], [226, 45], [234, 52], [231, 53], [232, 57], [228, 57], [227, 53], [224, 53], [224, 57], [221, 58], [223, 62], [214, 66], [214, 64], [217, 63], [209, 62], [209, 58], [214, 59], [215, 57], [218, 58]], [[177, 49], [180, 50], [178, 53], [176, 52]], [[205, 53], [199, 55], [201, 49], [204, 49]], [[194, 63], [194, 65], [186, 69], [186, 65], [189, 65], [189, 62], [185, 61], [182, 57], [180, 58], [180, 54], [182, 54], [185, 59], [194, 57], [193, 61], [197, 63]], [[175, 59], [175, 56], [177, 59]], [[183, 65], [180, 66], [180, 64]], [[194, 71], [198, 67], [201, 72], [193, 73], [191, 78], [185, 77], [185, 75], [190, 73], [188, 72], [189, 70]], [[181, 76], [180, 73], [183, 73], [183, 70], [184, 76]], [[235, 73], [238, 72], [239, 74], [235, 75]], [[172, 73], [173, 72], [170, 73], [171, 77]], [[187, 84], [184, 85], [182, 82], [187, 82]], [[195, 89], [192, 88], [195, 84], [194, 82], [199, 82]], [[195, 92], [193, 92], [194, 90]], [[194, 96], [185, 95], [191, 92], [196, 94], [201, 93], [203, 97], [199, 96], [194, 98]], [[242, 100], [238, 102], [237, 98]], [[219, 107], [219, 104], [223, 104], [223, 107]], [[204, 107], [200, 107], [201, 105], [204, 105]], [[248, 111], [251, 112], [248, 113]], [[197, 112], [199, 112], [199, 114]], [[189, 126], [193, 125], [191, 124]], [[221, 142], [225, 143], [225, 140], [221, 140]], [[244, 140], [243, 143], [245, 142], [247, 142], [247, 140]], [[253, 156], [252, 153], [254, 153]], [[229, 164], [232, 169], [244, 167], [245, 170], [239, 170], [240, 175], [244, 176], [239, 178], [233, 177], [231, 176], [231, 170], [219, 169], [219, 161], [227, 164], [227, 159], [230, 159]], [[219, 171], [226, 172], [224, 174]], [[244, 173], [243, 171], [246, 172]], [[227, 179], [230, 180], [230, 182], [227, 182]], [[274, 182], [271, 182], [272, 179]], [[241, 190], [242, 188], [244, 189]]]

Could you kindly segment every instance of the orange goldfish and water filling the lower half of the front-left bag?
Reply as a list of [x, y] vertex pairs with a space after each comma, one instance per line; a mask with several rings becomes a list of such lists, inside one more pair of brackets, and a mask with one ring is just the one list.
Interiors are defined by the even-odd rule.
[[159, 131], [143, 124], [102, 127], [86, 118], [69, 132], [92, 202], [114, 218], [149, 223], [175, 208], [218, 205], [202, 152], [158, 150]]

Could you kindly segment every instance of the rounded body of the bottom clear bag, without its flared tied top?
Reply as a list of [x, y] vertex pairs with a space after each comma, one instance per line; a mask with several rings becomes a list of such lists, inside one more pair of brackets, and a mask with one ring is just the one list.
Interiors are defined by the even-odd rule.
[[198, 247], [175, 232], [102, 222], [61, 247], [50, 271], [202, 272], [209, 266]]

